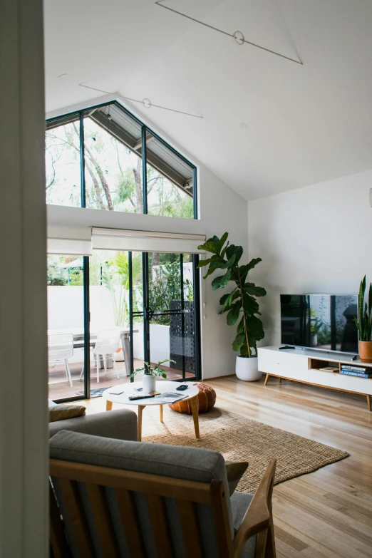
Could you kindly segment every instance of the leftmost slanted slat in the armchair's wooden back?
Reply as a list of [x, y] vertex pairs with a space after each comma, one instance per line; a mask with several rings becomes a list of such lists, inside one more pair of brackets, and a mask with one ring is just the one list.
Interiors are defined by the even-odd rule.
[[63, 478], [58, 479], [58, 482], [78, 551], [84, 558], [94, 558], [91, 535], [88, 531], [76, 482]]

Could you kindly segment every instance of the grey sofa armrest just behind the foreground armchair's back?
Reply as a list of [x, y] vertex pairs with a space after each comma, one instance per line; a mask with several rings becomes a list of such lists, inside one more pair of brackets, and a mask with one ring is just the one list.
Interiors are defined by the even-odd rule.
[[49, 423], [49, 438], [60, 430], [73, 430], [116, 440], [138, 440], [137, 415], [128, 409], [110, 410], [110, 413], [95, 413]]

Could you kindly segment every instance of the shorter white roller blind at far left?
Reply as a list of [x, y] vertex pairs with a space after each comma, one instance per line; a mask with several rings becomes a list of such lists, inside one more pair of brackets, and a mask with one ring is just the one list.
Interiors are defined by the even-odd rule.
[[89, 227], [48, 227], [47, 252], [63, 256], [91, 256]]

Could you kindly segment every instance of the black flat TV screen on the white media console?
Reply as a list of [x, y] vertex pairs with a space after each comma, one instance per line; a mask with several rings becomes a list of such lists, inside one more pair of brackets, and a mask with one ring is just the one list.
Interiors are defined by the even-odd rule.
[[358, 295], [281, 294], [281, 343], [358, 353]]

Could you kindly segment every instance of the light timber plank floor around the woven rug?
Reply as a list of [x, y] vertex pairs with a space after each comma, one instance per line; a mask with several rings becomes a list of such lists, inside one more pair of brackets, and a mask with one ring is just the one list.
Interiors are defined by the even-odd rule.
[[[206, 383], [215, 388], [219, 407], [350, 453], [274, 487], [277, 557], [372, 557], [372, 413], [366, 398], [279, 384], [277, 378], [266, 387], [263, 379], [246, 383], [235, 376]], [[86, 405], [88, 413], [105, 409], [102, 398]]]

